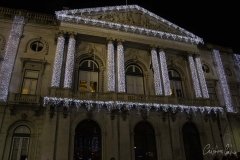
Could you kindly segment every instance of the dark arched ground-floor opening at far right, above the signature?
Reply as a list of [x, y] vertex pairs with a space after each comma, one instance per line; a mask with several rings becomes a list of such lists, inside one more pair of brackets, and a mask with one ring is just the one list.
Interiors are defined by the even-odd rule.
[[203, 160], [200, 137], [193, 123], [186, 123], [182, 128], [186, 160]]

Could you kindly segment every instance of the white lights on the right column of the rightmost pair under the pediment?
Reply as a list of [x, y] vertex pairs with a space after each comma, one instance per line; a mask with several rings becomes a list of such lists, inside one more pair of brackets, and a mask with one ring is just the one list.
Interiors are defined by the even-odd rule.
[[203, 98], [209, 98], [207, 84], [206, 84], [205, 76], [202, 70], [202, 63], [201, 63], [200, 57], [196, 57], [195, 62], [196, 62], [197, 73], [200, 81], [200, 86], [202, 89], [202, 96]]

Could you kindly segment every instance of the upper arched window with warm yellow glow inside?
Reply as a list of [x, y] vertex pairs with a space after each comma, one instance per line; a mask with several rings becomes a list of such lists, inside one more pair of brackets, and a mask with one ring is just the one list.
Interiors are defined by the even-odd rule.
[[98, 92], [98, 64], [93, 60], [83, 60], [79, 67], [78, 90], [81, 92]]

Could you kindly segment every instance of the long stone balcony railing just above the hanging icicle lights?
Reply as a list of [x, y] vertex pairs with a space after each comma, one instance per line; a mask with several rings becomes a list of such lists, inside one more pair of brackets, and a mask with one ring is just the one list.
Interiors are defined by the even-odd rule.
[[124, 101], [138, 103], [182, 104], [189, 106], [219, 106], [218, 101], [213, 99], [188, 99], [173, 96], [137, 95], [115, 92], [72, 92], [67, 89], [56, 88], [50, 89], [49, 96], [93, 101]]

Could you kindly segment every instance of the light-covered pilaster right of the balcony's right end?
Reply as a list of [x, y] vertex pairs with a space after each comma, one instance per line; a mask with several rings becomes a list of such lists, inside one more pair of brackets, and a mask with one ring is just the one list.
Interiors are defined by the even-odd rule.
[[223, 69], [223, 64], [222, 64], [220, 53], [218, 50], [215, 50], [215, 49], [213, 50], [212, 53], [213, 53], [214, 63], [216, 64], [217, 74], [218, 74], [218, 78], [219, 78], [220, 85], [222, 88], [223, 98], [224, 98], [224, 102], [226, 105], [226, 109], [228, 112], [234, 112], [233, 106], [232, 106], [232, 99], [231, 99], [225, 71]]

